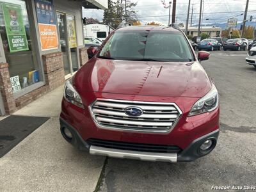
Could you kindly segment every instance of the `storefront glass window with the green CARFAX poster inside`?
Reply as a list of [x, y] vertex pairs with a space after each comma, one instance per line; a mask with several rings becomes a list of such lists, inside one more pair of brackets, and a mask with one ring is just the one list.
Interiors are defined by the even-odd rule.
[[29, 18], [25, 1], [0, 0], [0, 33], [4, 54], [9, 64], [11, 82], [17, 84], [13, 92], [40, 81], [33, 42], [35, 29], [31, 28]]

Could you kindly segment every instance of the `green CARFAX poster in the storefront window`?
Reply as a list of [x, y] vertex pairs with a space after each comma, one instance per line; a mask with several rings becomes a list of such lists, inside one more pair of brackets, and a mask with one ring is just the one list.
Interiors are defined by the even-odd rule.
[[28, 41], [19, 4], [2, 3], [10, 52], [28, 50]]

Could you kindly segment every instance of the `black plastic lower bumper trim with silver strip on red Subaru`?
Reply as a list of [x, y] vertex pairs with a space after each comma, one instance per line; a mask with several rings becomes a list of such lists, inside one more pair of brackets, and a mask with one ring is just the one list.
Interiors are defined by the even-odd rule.
[[[218, 140], [219, 129], [210, 132], [209, 134], [205, 134], [200, 138], [192, 141], [190, 145], [182, 150], [179, 153], [159, 153], [159, 152], [143, 152], [138, 150], [123, 150], [118, 148], [109, 148], [109, 147], [100, 147], [95, 145], [90, 145], [90, 143], [83, 140], [79, 132], [72, 127], [72, 125], [68, 124], [60, 118], [60, 127], [61, 127], [61, 134], [63, 134], [63, 129], [68, 129], [72, 133], [72, 140], [67, 140], [70, 142], [74, 147], [78, 148], [79, 150], [86, 150], [89, 151], [90, 154], [93, 155], [102, 155], [102, 156], [109, 156], [109, 157], [117, 157], [117, 158], [128, 158], [128, 159], [140, 159], [144, 161], [167, 161], [170, 163], [175, 163], [177, 161], [194, 161], [199, 157], [205, 156], [209, 154], [214, 147], [216, 146], [216, 142]], [[65, 134], [63, 134], [65, 137]], [[207, 153], [202, 154], [200, 153], [200, 146], [206, 140], [212, 140], [214, 143]]]

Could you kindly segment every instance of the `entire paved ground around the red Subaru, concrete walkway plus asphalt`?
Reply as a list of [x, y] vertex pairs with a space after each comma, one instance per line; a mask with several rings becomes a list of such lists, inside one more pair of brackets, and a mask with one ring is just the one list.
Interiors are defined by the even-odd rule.
[[208, 156], [191, 163], [170, 164], [79, 152], [63, 140], [59, 131], [60, 87], [15, 113], [51, 119], [0, 158], [0, 191], [212, 191], [212, 186], [256, 187], [256, 68], [245, 63], [246, 53], [214, 51], [208, 61], [202, 62], [216, 83], [221, 104], [220, 137]]

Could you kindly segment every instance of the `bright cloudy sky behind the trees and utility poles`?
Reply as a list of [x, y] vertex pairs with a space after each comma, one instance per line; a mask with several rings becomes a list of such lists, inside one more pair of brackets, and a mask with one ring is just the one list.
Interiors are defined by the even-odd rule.
[[[169, 9], [164, 8], [161, 4], [161, 0], [130, 0], [132, 2], [138, 2], [135, 10], [138, 13], [138, 20], [142, 24], [147, 22], [158, 22], [163, 25], [168, 24], [168, 15]], [[169, 3], [168, 0], [165, 0], [166, 4]], [[176, 22], [177, 23], [186, 23], [186, 17], [188, 12], [188, 2], [189, 0], [177, 0], [176, 6]], [[200, 0], [191, 0], [191, 10], [192, 4], [194, 4], [193, 9], [193, 21], [192, 25], [198, 24], [199, 12], [200, 12]], [[246, 5], [246, 0], [204, 0], [204, 15], [203, 15], [203, 24], [215, 24], [227, 22], [227, 19], [236, 15], [239, 15], [244, 12]], [[189, 24], [191, 19], [191, 10], [189, 17]], [[93, 17], [102, 21], [103, 19], [103, 10], [83, 10], [84, 17]], [[172, 15], [172, 9], [171, 9]], [[248, 15], [247, 19], [250, 18], [250, 15], [255, 17], [256, 21], [256, 0], [250, 0], [248, 6]], [[243, 20], [243, 15], [239, 15], [235, 18], [238, 21]], [[206, 20], [207, 19], [207, 20]]]

